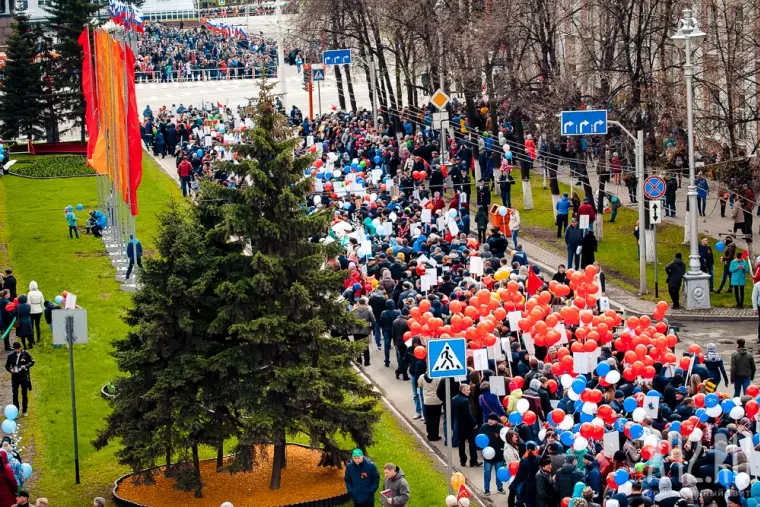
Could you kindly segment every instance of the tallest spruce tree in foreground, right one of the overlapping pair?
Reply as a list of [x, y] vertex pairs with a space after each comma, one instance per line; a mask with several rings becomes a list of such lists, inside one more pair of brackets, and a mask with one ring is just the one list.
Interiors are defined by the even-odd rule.
[[227, 329], [235, 344], [229, 354], [239, 378], [234, 396], [248, 407], [237, 465], [255, 466], [256, 450], [274, 443], [270, 489], [279, 489], [289, 436], [308, 435], [323, 449], [322, 463], [339, 466], [348, 453], [338, 436], [368, 446], [379, 414], [371, 386], [351, 365], [363, 345], [330, 336], [330, 329], [355, 323], [339, 298], [343, 274], [325, 268], [339, 247], [317, 241], [329, 232], [331, 213], [305, 212], [312, 182], [304, 170], [312, 157], [294, 156], [302, 140], [277, 111], [271, 90], [261, 86], [254, 128], [234, 148], [239, 164], [228, 168], [245, 183], [216, 187], [213, 195], [204, 187], [200, 208], [218, 218], [226, 237], [250, 246], [240, 259], [246, 276], [217, 288], [222, 304], [214, 327]]

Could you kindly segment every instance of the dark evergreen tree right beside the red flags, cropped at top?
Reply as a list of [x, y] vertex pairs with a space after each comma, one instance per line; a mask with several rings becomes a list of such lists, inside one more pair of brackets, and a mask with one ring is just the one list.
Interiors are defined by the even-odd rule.
[[56, 112], [60, 120], [81, 128], [85, 139], [85, 102], [82, 94], [82, 60], [84, 53], [79, 35], [105, 4], [101, 0], [55, 0], [45, 10], [55, 38], [55, 69], [52, 74], [56, 90]]

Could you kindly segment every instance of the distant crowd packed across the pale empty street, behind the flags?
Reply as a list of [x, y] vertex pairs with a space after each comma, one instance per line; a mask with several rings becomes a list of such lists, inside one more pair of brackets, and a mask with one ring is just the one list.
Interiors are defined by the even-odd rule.
[[277, 44], [263, 35], [229, 36], [205, 26], [145, 22], [136, 82], [250, 79], [277, 75]]

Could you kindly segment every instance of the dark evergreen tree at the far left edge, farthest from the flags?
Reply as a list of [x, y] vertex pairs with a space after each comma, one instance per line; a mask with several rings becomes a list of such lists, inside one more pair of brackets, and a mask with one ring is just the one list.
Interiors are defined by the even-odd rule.
[[37, 61], [38, 31], [29, 16], [17, 12], [8, 38], [8, 59], [0, 80], [0, 134], [3, 137], [41, 137], [45, 130], [42, 65]]

